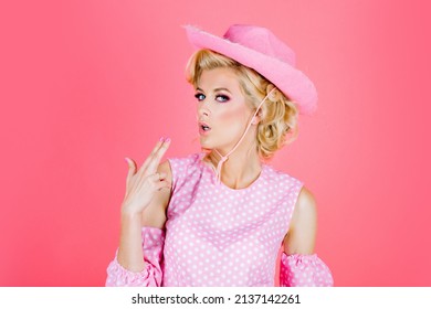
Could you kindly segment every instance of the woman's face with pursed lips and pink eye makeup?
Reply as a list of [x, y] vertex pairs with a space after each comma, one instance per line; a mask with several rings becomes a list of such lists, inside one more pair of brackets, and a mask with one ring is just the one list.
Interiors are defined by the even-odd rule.
[[230, 151], [243, 135], [253, 110], [242, 94], [239, 77], [229, 67], [202, 72], [196, 89], [202, 148]]

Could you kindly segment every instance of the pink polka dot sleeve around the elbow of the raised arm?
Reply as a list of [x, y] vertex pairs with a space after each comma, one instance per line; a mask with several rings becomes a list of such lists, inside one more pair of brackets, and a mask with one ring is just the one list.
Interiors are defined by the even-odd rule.
[[144, 226], [141, 233], [145, 268], [139, 273], [124, 268], [117, 260], [117, 249], [114, 260], [106, 270], [107, 287], [159, 287], [161, 285], [165, 232], [157, 227]]

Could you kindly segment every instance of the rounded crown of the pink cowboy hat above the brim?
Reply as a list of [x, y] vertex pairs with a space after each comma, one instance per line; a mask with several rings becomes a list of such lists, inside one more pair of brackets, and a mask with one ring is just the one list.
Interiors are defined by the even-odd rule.
[[265, 28], [233, 24], [228, 29], [223, 38], [232, 43], [241, 44], [295, 66], [295, 53], [293, 50]]

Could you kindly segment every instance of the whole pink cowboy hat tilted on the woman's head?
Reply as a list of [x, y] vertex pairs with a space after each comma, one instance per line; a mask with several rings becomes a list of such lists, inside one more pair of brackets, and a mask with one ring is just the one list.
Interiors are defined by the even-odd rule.
[[192, 25], [185, 28], [192, 45], [223, 54], [255, 70], [294, 100], [301, 114], [312, 114], [316, 109], [317, 92], [314, 84], [295, 68], [292, 49], [270, 30], [234, 24], [223, 38], [219, 38]]

